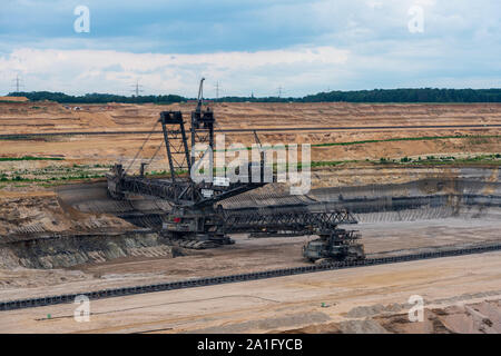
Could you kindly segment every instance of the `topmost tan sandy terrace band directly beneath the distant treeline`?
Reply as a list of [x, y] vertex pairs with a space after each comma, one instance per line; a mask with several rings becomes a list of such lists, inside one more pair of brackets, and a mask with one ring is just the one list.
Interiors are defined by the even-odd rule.
[[[164, 110], [181, 110], [185, 117], [195, 105], [76, 105], [57, 102], [0, 103], [4, 134], [53, 132], [102, 129], [150, 128]], [[386, 126], [386, 125], [471, 125], [499, 123], [501, 105], [423, 103], [215, 103], [220, 128]]]

